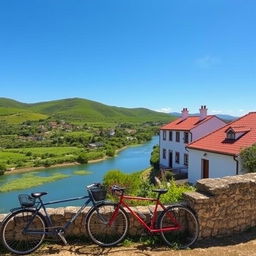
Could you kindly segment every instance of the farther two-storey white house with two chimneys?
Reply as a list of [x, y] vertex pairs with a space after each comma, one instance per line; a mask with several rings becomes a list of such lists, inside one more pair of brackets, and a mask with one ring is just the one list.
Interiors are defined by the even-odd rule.
[[206, 106], [201, 106], [199, 116], [189, 116], [183, 108], [181, 118], [160, 128], [160, 166], [187, 172], [189, 152], [187, 145], [212, 131], [226, 125], [215, 115], [207, 115]]

